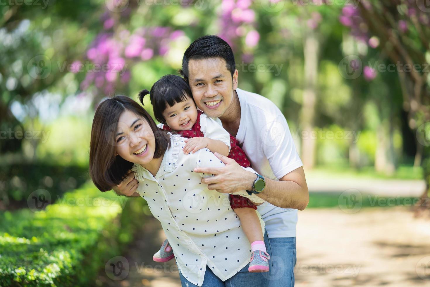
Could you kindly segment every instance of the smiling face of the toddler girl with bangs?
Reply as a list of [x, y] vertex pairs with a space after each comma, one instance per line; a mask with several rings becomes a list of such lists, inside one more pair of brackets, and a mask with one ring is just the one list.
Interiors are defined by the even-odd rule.
[[185, 102], [168, 106], [163, 111], [163, 117], [172, 130], [190, 130], [197, 120], [196, 104], [190, 96], [187, 96]]

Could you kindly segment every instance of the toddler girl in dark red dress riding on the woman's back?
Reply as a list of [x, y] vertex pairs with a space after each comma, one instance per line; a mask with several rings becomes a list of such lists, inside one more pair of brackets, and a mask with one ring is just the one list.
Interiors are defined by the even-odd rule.
[[[182, 148], [185, 154], [208, 148], [212, 152], [216, 151], [234, 159], [242, 167], [251, 165], [237, 140], [222, 128], [221, 121], [207, 117], [202, 111], [197, 110], [190, 87], [183, 78], [175, 75], [160, 78], [152, 86], [151, 92], [144, 89], [139, 93], [142, 105], [147, 94], [150, 95], [154, 116], [160, 122], [159, 127], [188, 138]], [[249, 272], [269, 271], [270, 256], [264, 245], [260, 221], [255, 211], [257, 207], [240, 195], [230, 194], [229, 199], [230, 206], [239, 216], [243, 231], [251, 244]], [[153, 259], [157, 262], [167, 262], [173, 257], [172, 247], [165, 240]]]

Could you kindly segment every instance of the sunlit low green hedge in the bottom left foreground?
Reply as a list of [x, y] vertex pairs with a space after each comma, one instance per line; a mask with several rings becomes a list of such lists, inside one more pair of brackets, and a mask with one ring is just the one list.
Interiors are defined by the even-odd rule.
[[89, 286], [142, 224], [145, 201], [86, 184], [44, 212], [0, 215], [0, 286]]

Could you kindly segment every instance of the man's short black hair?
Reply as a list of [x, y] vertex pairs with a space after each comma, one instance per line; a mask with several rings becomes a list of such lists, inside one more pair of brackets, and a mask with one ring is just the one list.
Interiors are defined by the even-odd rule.
[[207, 35], [195, 40], [184, 53], [182, 70], [179, 71], [188, 80], [188, 62], [195, 59], [221, 58], [227, 63], [227, 70], [233, 77], [236, 70], [233, 51], [230, 45], [215, 35]]

